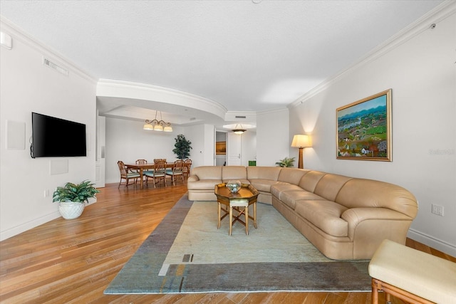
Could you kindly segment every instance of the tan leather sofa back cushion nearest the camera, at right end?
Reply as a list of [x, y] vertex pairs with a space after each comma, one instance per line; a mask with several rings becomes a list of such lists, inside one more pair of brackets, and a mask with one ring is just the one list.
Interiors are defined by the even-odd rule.
[[338, 192], [336, 202], [347, 208], [388, 208], [412, 218], [418, 213], [416, 198], [407, 189], [372, 179], [349, 180]]

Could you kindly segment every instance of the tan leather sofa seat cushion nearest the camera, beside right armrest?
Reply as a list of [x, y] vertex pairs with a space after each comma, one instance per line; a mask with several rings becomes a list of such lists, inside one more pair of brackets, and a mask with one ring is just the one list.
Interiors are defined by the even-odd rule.
[[296, 214], [317, 226], [331, 236], [348, 236], [348, 223], [341, 219], [346, 207], [333, 201], [301, 200], [296, 201]]

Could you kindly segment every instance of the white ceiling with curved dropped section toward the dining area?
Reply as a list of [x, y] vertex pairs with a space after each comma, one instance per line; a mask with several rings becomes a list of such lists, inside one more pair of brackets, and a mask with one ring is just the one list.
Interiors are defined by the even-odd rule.
[[[1, 0], [0, 12], [95, 79], [185, 100], [103, 97], [102, 115], [145, 120], [161, 110], [177, 125], [254, 125], [255, 113], [286, 108], [441, 3]], [[220, 120], [195, 98], [227, 115]]]

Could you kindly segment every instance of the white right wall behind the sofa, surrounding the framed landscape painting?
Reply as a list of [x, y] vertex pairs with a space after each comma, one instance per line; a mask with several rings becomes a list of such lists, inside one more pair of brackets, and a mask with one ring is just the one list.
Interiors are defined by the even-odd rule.
[[[445, 16], [443, 17], [445, 18]], [[432, 23], [431, 21], [428, 22]], [[305, 167], [379, 179], [419, 201], [409, 236], [456, 256], [456, 14], [365, 61], [290, 110], [291, 133], [311, 132]], [[336, 108], [391, 88], [393, 162], [336, 159]], [[431, 204], [444, 216], [431, 214]]]

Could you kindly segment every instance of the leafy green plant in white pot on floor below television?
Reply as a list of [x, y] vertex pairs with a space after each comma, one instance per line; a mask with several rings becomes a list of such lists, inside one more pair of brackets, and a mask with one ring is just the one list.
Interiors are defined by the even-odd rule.
[[90, 181], [83, 181], [81, 184], [67, 182], [63, 187], [57, 187], [53, 193], [52, 201], [58, 201], [58, 211], [63, 219], [76, 219], [84, 211], [84, 203], [99, 193]]

